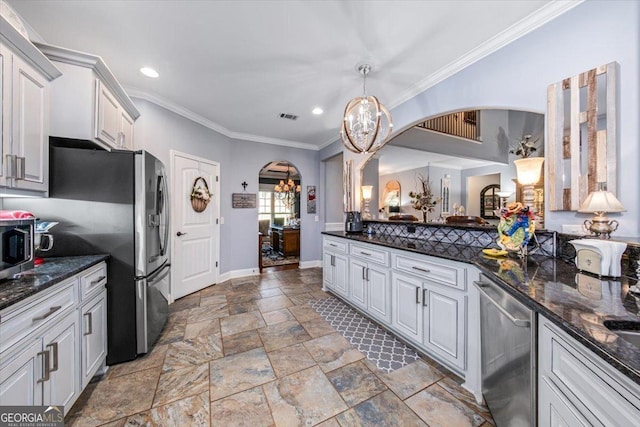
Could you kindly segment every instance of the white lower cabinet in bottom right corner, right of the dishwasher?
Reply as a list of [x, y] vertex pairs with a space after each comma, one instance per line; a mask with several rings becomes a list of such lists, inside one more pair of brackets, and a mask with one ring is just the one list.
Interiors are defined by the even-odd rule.
[[640, 386], [539, 316], [538, 421], [552, 425], [640, 425]]

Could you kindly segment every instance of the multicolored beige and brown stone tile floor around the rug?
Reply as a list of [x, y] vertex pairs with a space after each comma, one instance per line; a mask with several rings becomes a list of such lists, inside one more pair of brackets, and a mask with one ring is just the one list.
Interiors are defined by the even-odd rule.
[[430, 359], [377, 368], [308, 304], [329, 296], [321, 288], [313, 268], [181, 298], [153, 350], [93, 381], [65, 425], [493, 425]]

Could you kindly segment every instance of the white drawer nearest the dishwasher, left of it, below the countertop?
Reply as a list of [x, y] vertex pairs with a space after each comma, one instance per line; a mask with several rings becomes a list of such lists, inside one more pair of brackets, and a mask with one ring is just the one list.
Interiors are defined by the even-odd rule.
[[466, 270], [464, 267], [444, 265], [443, 260], [431, 261], [426, 258], [412, 258], [394, 255], [394, 267], [400, 271], [434, 280], [460, 290], [466, 289]]

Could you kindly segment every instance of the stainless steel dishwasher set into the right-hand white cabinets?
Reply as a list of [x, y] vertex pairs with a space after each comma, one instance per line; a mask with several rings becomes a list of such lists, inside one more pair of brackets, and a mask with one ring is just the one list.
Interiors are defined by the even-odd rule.
[[535, 313], [480, 275], [482, 394], [497, 427], [536, 425]]

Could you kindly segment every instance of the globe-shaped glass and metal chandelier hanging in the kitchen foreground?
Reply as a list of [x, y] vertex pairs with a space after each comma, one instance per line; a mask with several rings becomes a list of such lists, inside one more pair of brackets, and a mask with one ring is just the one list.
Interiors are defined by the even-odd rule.
[[358, 66], [363, 75], [362, 96], [353, 98], [344, 109], [340, 136], [342, 143], [354, 153], [375, 153], [387, 142], [393, 128], [389, 110], [375, 96], [367, 96], [369, 64]]

